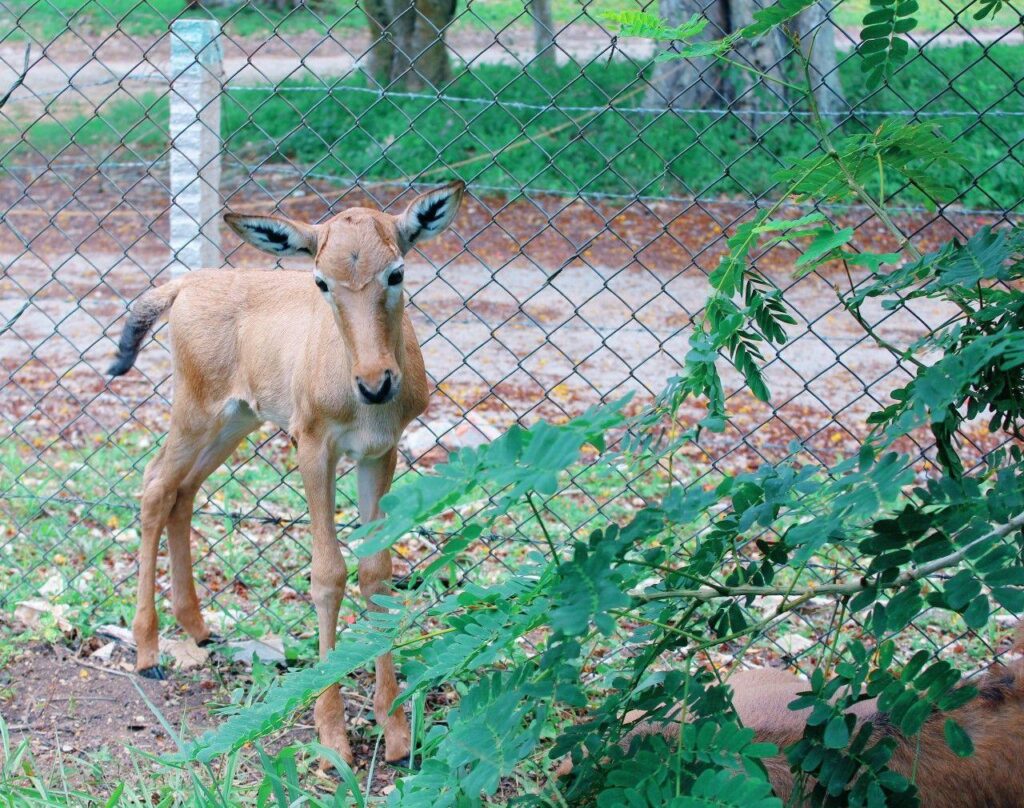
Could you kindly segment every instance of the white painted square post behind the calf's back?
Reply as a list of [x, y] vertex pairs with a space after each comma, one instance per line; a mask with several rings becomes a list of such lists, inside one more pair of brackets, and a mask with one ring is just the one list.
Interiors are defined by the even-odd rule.
[[171, 24], [171, 271], [219, 266], [223, 52], [213, 19]]

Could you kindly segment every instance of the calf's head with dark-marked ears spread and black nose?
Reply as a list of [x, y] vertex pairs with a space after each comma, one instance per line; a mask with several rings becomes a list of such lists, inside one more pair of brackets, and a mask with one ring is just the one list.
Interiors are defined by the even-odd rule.
[[351, 357], [355, 394], [379, 405], [401, 387], [403, 256], [452, 223], [465, 187], [459, 181], [428, 190], [397, 216], [349, 208], [319, 224], [242, 213], [228, 213], [224, 220], [263, 252], [312, 257], [309, 283], [334, 312]]

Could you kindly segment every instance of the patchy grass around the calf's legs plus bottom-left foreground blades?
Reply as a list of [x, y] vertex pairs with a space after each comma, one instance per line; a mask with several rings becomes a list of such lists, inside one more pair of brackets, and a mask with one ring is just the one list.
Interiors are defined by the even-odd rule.
[[[310, 546], [308, 525], [259, 525], [230, 515], [272, 513], [294, 518], [304, 511], [302, 488], [292, 470], [294, 457], [288, 443], [284, 440], [267, 443], [264, 437], [260, 436], [260, 457], [253, 457], [252, 448], [244, 446], [229, 461], [229, 468], [221, 468], [210, 478], [204, 495], [197, 501], [200, 513], [194, 518], [194, 525], [207, 540], [218, 541], [212, 554], [198, 560], [196, 575], [201, 584], [221, 582], [215, 608], [238, 620], [233, 632], [227, 633], [285, 635], [289, 655], [297, 663], [309, 663], [315, 658], [311, 639], [315, 621], [305, 598], [308, 555], [296, 550]], [[103, 623], [130, 623], [134, 607], [132, 576], [138, 548], [138, 491], [142, 470], [158, 445], [153, 435], [141, 430], [97, 434], [74, 444], [61, 439], [50, 442], [50, 438], [42, 436], [30, 444], [11, 435], [0, 437], [0, 512], [7, 517], [9, 528], [0, 534], [0, 593], [4, 596], [4, 610], [12, 609], [18, 600], [37, 597], [40, 589], [56, 576], [67, 588], [47, 597], [70, 606], [66, 616], [81, 636], [89, 636]], [[680, 458], [678, 463], [686, 461]], [[677, 469], [686, 473], [683, 466], [677, 465]], [[664, 471], [653, 470], [632, 484], [632, 494], [624, 496], [626, 483], [618, 472], [607, 466], [577, 469], [571, 490], [548, 504], [548, 530], [556, 543], [565, 544], [577, 531], [602, 526], [608, 519], [628, 518], [636, 510], [636, 496], [662, 496], [667, 484]], [[353, 474], [339, 480], [341, 521], [354, 518], [351, 503], [354, 487]], [[603, 508], [600, 516], [596, 516], [595, 503]], [[481, 496], [479, 507], [483, 504]], [[436, 531], [434, 541], [440, 546], [444, 531], [454, 529], [457, 521], [458, 518], [439, 519], [424, 527]], [[516, 541], [505, 541], [513, 534]], [[467, 586], [507, 577], [528, 553], [545, 546], [542, 543], [531, 511], [522, 504], [494, 526], [494, 534], [488, 531], [455, 557], [451, 565], [457, 569], [447, 575], [440, 570], [439, 578]], [[206, 542], [196, 543], [195, 549], [203, 554], [206, 545]], [[412, 555], [400, 546], [398, 554]], [[435, 556], [426, 558], [433, 561]], [[166, 558], [162, 555], [159, 566], [165, 565]], [[350, 599], [342, 606], [343, 614], [351, 614], [362, 605], [354, 582], [354, 566], [351, 559]], [[284, 601], [272, 580], [275, 570], [291, 575], [288, 583], [302, 596], [300, 599]], [[245, 598], [240, 597], [238, 584], [244, 585]], [[446, 607], [436, 606], [442, 594], [446, 594], [445, 585], [435, 582], [414, 601], [419, 607], [434, 606], [423, 618], [425, 630], [443, 625], [451, 616]], [[264, 608], [253, 609], [256, 603]], [[158, 613], [162, 630], [173, 632], [166, 601], [159, 602]], [[298, 634], [306, 638], [298, 639]], [[4, 621], [0, 619], [0, 665], [16, 656], [20, 647], [39, 640], [63, 641], [60, 632], [46, 621], [35, 632], [14, 635], [5, 634]], [[417, 649], [412, 648], [399, 657], [409, 662], [416, 654]], [[258, 679], [258, 673], [254, 671], [254, 679]], [[259, 691], [258, 681], [254, 687], [245, 687], [244, 681], [228, 674], [218, 674], [221, 689], [210, 695], [214, 718], [245, 710], [245, 699]], [[470, 676], [471, 673], [466, 674], [467, 678]], [[266, 681], [272, 678], [267, 676]], [[13, 683], [15, 689], [16, 686]], [[233, 688], [229, 697], [225, 688]], [[0, 692], [0, 699], [4, 695]], [[422, 701], [418, 703], [418, 734], [434, 723], [443, 722], [449, 706], [446, 698], [431, 703], [426, 709]], [[43, 765], [32, 761], [28, 748], [9, 741], [4, 746], [2, 733], [0, 726], [0, 795], [10, 796], [14, 804], [101, 806], [122, 789], [118, 805], [143, 802], [165, 806], [253, 805], [257, 804], [260, 793], [271, 789], [275, 776], [286, 780], [285, 785], [291, 783], [290, 797], [285, 802], [271, 800], [269, 804], [350, 804], [344, 799], [332, 802], [334, 781], [311, 773], [313, 750], [300, 748], [298, 754], [285, 750], [263, 759], [257, 757], [255, 750], [246, 749], [228, 760], [218, 761], [211, 770], [199, 766], [185, 769], [164, 766], [137, 753], [137, 765], [125, 771], [102, 751], [72, 754]], [[182, 728], [180, 734], [187, 736], [188, 732]], [[302, 737], [308, 736], [309, 729], [303, 729]], [[281, 738], [271, 738], [269, 742], [280, 746]], [[359, 779], [365, 779], [364, 771]], [[360, 788], [365, 789], [365, 784]], [[211, 789], [219, 795], [215, 803], [209, 799]], [[344, 790], [339, 793], [342, 795]], [[303, 799], [308, 802], [301, 802]], [[380, 802], [373, 800], [368, 804]]]

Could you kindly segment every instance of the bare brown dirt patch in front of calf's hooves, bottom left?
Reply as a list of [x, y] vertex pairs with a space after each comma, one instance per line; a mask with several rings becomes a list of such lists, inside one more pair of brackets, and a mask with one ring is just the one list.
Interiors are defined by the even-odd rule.
[[[0, 716], [10, 733], [11, 748], [27, 740], [36, 770], [48, 775], [62, 766], [73, 788], [101, 790], [120, 779], [132, 780], [136, 767], [154, 766], [143, 754], [176, 752], [175, 738], [155, 710], [179, 737], [187, 739], [225, 720], [211, 708], [229, 704], [234, 688], [252, 682], [246, 667], [217, 657], [197, 670], [172, 670], [166, 681], [144, 679], [131, 673], [134, 652], [130, 648], [119, 646], [110, 660], [94, 657], [92, 653], [105, 642], [99, 638], [69, 645], [34, 642], [20, 646], [13, 661], [0, 670]], [[345, 692], [360, 780], [377, 747], [367, 690], [371, 683], [372, 677], [362, 672], [357, 689]], [[264, 748], [272, 755], [287, 745], [313, 739], [312, 715], [307, 710], [289, 729], [267, 738]], [[244, 760], [242, 781], [258, 782], [261, 771], [248, 757]], [[97, 765], [101, 774], [95, 773]], [[376, 765], [372, 793], [386, 791], [394, 776], [395, 769]], [[88, 781], [93, 777], [98, 780]], [[316, 777], [323, 779], [325, 790], [333, 791], [333, 775]]]

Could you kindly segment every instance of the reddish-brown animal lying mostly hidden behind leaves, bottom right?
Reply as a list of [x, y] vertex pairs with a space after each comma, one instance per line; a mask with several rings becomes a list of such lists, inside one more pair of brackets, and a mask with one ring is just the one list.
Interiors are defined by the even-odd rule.
[[[743, 726], [756, 731], [759, 742], [774, 743], [779, 751], [800, 740], [810, 709], [790, 710], [790, 704], [809, 685], [803, 679], [775, 669], [741, 671], [729, 678], [732, 704]], [[889, 768], [912, 779], [924, 808], [1020, 808], [1024, 805], [1024, 660], [1007, 666], [993, 666], [975, 683], [979, 694], [962, 708], [949, 713], [934, 713], [920, 736], [906, 737], [893, 726], [885, 713], [879, 712], [876, 699], [859, 701], [850, 712], [859, 726], [870, 721], [872, 742], [883, 735], [893, 735], [897, 747]], [[677, 707], [675, 715], [680, 712]], [[953, 718], [971, 736], [974, 754], [959, 758], [946, 743], [943, 726]], [[675, 740], [678, 720], [643, 720], [641, 711], [626, 716], [633, 728], [621, 741], [629, 749], [638, 735], [660, 734]], [[768, 779], [775, 796], [784, 805], [806, 806], [794, 799], [795, 781], [784, 755], [765, 761]], [[572, 770], [566, 759], [557, 774]]]

